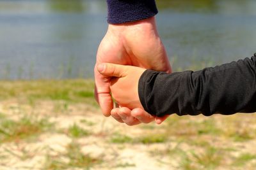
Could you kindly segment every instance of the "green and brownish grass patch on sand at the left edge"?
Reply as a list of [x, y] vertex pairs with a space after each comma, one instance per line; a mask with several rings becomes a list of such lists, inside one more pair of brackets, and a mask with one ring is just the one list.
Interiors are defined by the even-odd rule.
[[10, 142], [26, 139], [31, 136], [51, 129], [51, 124], [46, 118], [38, 119], [22, 117], [19, 121], [1, 119], [0, 122], [0, 141]]

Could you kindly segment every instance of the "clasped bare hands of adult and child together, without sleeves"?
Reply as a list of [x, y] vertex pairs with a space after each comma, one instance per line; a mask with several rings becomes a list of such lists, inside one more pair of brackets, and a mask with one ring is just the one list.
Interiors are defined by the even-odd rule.
[[[99, 45], [94, 69], [95, 99], [104, 116], [111, 115], [127, 125], [154, 120], [161, 124], [167, 118], [153, 117], [140, 104], [138, 80], [145, 69], [171, 72], [155, 18], [109, 24]], [[118, 108], [113, 108], [112, 97], [119, 104]]]

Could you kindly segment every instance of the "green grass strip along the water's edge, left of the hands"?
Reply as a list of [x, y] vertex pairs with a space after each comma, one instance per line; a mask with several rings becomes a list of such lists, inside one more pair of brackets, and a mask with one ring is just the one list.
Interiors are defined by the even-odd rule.
[[93, 80], [1, 81], [0, 99], [72, 101], [96, 106]]

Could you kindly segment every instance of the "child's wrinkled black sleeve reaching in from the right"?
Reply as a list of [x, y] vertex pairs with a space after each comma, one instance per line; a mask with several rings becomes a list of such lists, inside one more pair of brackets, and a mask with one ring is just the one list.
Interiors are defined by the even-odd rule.
[[145, 71], [139, 81], [143, 108], [157, 117], [230, 115], [256, 111], [256, 53], [251, 59], [200, 71]]

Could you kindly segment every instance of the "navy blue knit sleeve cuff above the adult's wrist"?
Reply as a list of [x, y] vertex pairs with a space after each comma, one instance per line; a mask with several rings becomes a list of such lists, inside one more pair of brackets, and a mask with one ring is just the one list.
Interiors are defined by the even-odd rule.
[[107, 0], [108, 23], [123, 24], [157, 14], [155, 0]]

